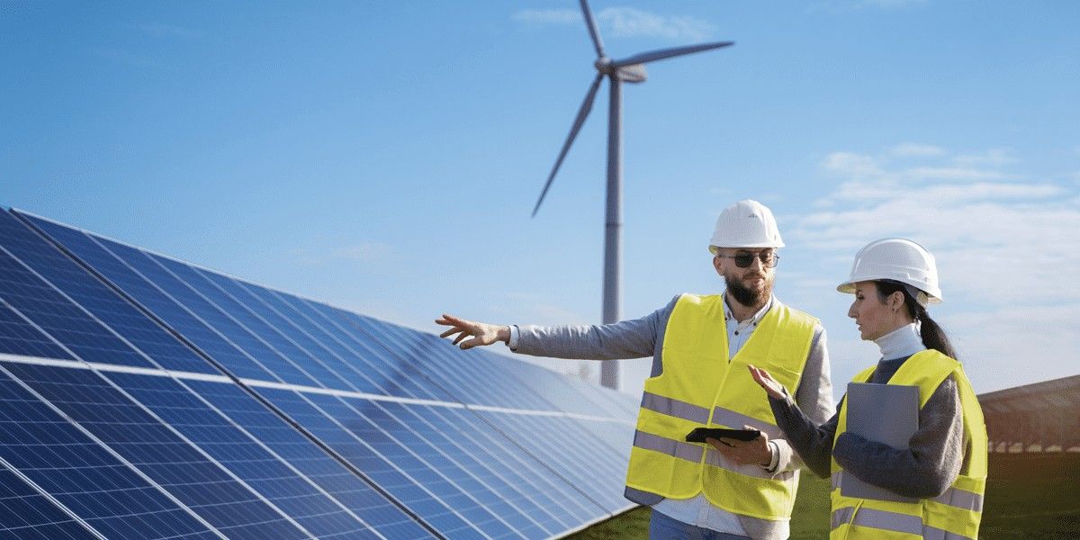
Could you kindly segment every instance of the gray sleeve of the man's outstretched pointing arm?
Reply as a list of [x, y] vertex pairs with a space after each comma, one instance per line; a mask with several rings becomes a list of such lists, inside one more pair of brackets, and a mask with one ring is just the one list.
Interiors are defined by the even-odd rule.
[[[632, 321], [582, 326], [518, 326], [514, 352], [577, 360], [658, 357], [676, 296], [667, 306]], [[653, 366], [656, 369], [656, 366]]]

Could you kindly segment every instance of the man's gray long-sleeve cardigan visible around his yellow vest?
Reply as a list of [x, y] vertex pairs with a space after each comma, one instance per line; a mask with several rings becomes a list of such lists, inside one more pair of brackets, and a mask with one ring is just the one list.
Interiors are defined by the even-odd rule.
[[[681, 295], [679, 295], [681, 296]], [[651, 376], [663, 370], [663, 340], [676, 296], [665, 307], [637, 320], [622, 321], [606, 325], [590, 326], [519, 326], [513, 348], [515, 352], [539, 356], [579, 360], [613, 360], [652, 356]], [[772, 298], [772, 308], [780, 306]], [[743, 332], [753, 332], [754, 327]], [[825, 346], [825, 330], [818, 326], [802, 370], [802, 378], [795, 392], [795, 402], [810, 418], [824, 421], [833, 413], [833, 388], [829, 382], [828, 352]], [[762, 391], [762, 397], [765, 393]], [[791, 445], [783, 440], [774, 441], [777, 456], [775, 474], [792, 471], [801, 465]], [[626, 497], [640, 504], [657, 504], [662, 497], [627, 488]], [[738, 516], [744, 531], [755, 539], [782, 539], [787, 537], [787, 522]]]

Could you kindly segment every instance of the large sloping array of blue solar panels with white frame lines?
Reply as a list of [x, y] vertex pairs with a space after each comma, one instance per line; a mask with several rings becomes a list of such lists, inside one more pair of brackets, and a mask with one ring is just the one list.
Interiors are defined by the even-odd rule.
[[631, 507], [636, 404], [0, 211], [0, 536], [551, 538]]

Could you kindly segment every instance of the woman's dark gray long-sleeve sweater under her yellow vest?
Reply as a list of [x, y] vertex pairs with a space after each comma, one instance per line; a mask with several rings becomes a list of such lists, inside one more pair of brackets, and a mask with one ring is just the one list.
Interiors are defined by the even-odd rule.
[[[910, 335], [910, 329], [902, 328]], [[900, 333], [901, 330], [897, 330]], [[897, 334], [905, 338], [903, 333]], [[907, 338], [909, 339], [909, 338]], [[917, 348], [921, 348], [921, 342]], [[908, 346], [908, 352], [912, 347]], [[878, 362], [869, 382], [886, 383], [910, 354]], [[896, 449], [854, 433], [836, 440], [839, 410], [820, 423], [808, 418], [791, 397], [769, 399], [777, 424], [787, 442], [814, 474], [829, 476], [829, 457], [859, 480], [896, 494], [929, 498], [944, 492], [956, 481], [963, 461], [963, 416], [956, 380], [949, 376], [919, 409], [919, 428], [907, 449]]]

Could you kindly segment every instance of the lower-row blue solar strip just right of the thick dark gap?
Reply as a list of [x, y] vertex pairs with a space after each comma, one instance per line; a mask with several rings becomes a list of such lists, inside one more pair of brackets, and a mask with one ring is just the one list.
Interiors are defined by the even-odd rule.
[[366, 441], [353, 435], [340, 422], [324, 415], [302, 396], [289, 390], [259, 389], [274, 405], [328, 444], [378, 486], [447, 538], [482, 538], [478, 530], [427, 489], [427, 477], [414, 477], [377, 454]]

